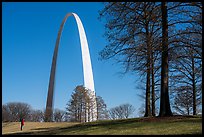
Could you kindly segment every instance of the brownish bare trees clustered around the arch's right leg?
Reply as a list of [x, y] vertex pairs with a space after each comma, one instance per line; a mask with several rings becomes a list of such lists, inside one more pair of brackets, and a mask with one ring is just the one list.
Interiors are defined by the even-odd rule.
[[[88, 104], [90, 102], [90, 96], [87, 95], [88, 91], [82, 85], [77, 86], [71, 95], [71, 99], [67, 103], [67, 114], [71, 121], [74, 122], [87, 122], [87, 112], [89, 111]], [[96, 97], [97, 103], [97, 120], [105, 119], [126, 119], [130, 118], [135, 111], [134, 106], [131, 104], [122, 104], [113, 108], [107, 109], [103, 98], [101, 96]], [[87, 110], [88, 109], [88, 110]], [[88, 115], [89, 116], [89, 115]]]

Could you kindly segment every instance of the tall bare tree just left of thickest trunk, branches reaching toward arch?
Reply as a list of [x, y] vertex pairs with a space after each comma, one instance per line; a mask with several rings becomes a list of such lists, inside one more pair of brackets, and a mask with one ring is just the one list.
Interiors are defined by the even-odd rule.
[[[111, 2], [105, 5], [101, 17], [107, 17], [106, 34], [109, 41], [101, 52], [102, 59], [115, 58], [126, 72], [146, 75], [145, 116], [155, 108], [154, 73], [156, 52], [160, 49], [161, 12], [155, 2]], [[151, 84], [152, 78], [152, 84]], [[152, 88], [151, 88], [152, 86]]]

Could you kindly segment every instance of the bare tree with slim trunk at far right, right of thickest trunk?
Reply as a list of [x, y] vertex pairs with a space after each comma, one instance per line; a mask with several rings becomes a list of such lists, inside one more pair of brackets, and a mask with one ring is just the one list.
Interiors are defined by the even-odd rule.
[[[186, 87], [185, 90], [192, 93], [193, 115], [196, 115], [197, 102], [200, 102], [202, 94], [202, 3], [179, 3], [172, 13], [176, 17], [171, 24], [183, 25], [170, 36], [170, 78], [174, 81], [172, 91], [177, 92], [179, 87]], [[189, 90], [189, 86], [192, 91]]]

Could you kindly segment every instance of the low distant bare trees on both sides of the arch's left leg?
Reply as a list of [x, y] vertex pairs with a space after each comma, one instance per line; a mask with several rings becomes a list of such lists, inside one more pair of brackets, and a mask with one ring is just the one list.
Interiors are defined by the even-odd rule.
[[[45, 110], [32, 109], [27, 103], [9, 102], [2, 105], [2, 122], [19, 122], [24, 118], [25, 121], [43, 122], [45, 121]], [[69, 121], [66, 117], [66, 111], [54, 109], [53, 121]]]

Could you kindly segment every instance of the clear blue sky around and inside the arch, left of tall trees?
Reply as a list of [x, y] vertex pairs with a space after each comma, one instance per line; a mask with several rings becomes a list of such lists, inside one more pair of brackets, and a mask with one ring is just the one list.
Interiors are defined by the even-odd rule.
[[[108, 109], [130, 103], [135, 115], [144, 100], [138, 97], [137, 76], [121, 76], [113, 60], [99, 60], [106, 46], [105, 20], [98, 19], [100, 2], [2, 3], [2, 104], [25, 102], [45, 109], [57, 33], [64, 16], [80, 17], [88, 40], [96, 95]], [[69, 17], [62, 33], [55, 81], [54, 108], [65, 110], [73, 89], [83, 85], [81, 47], [76, 21]]]

